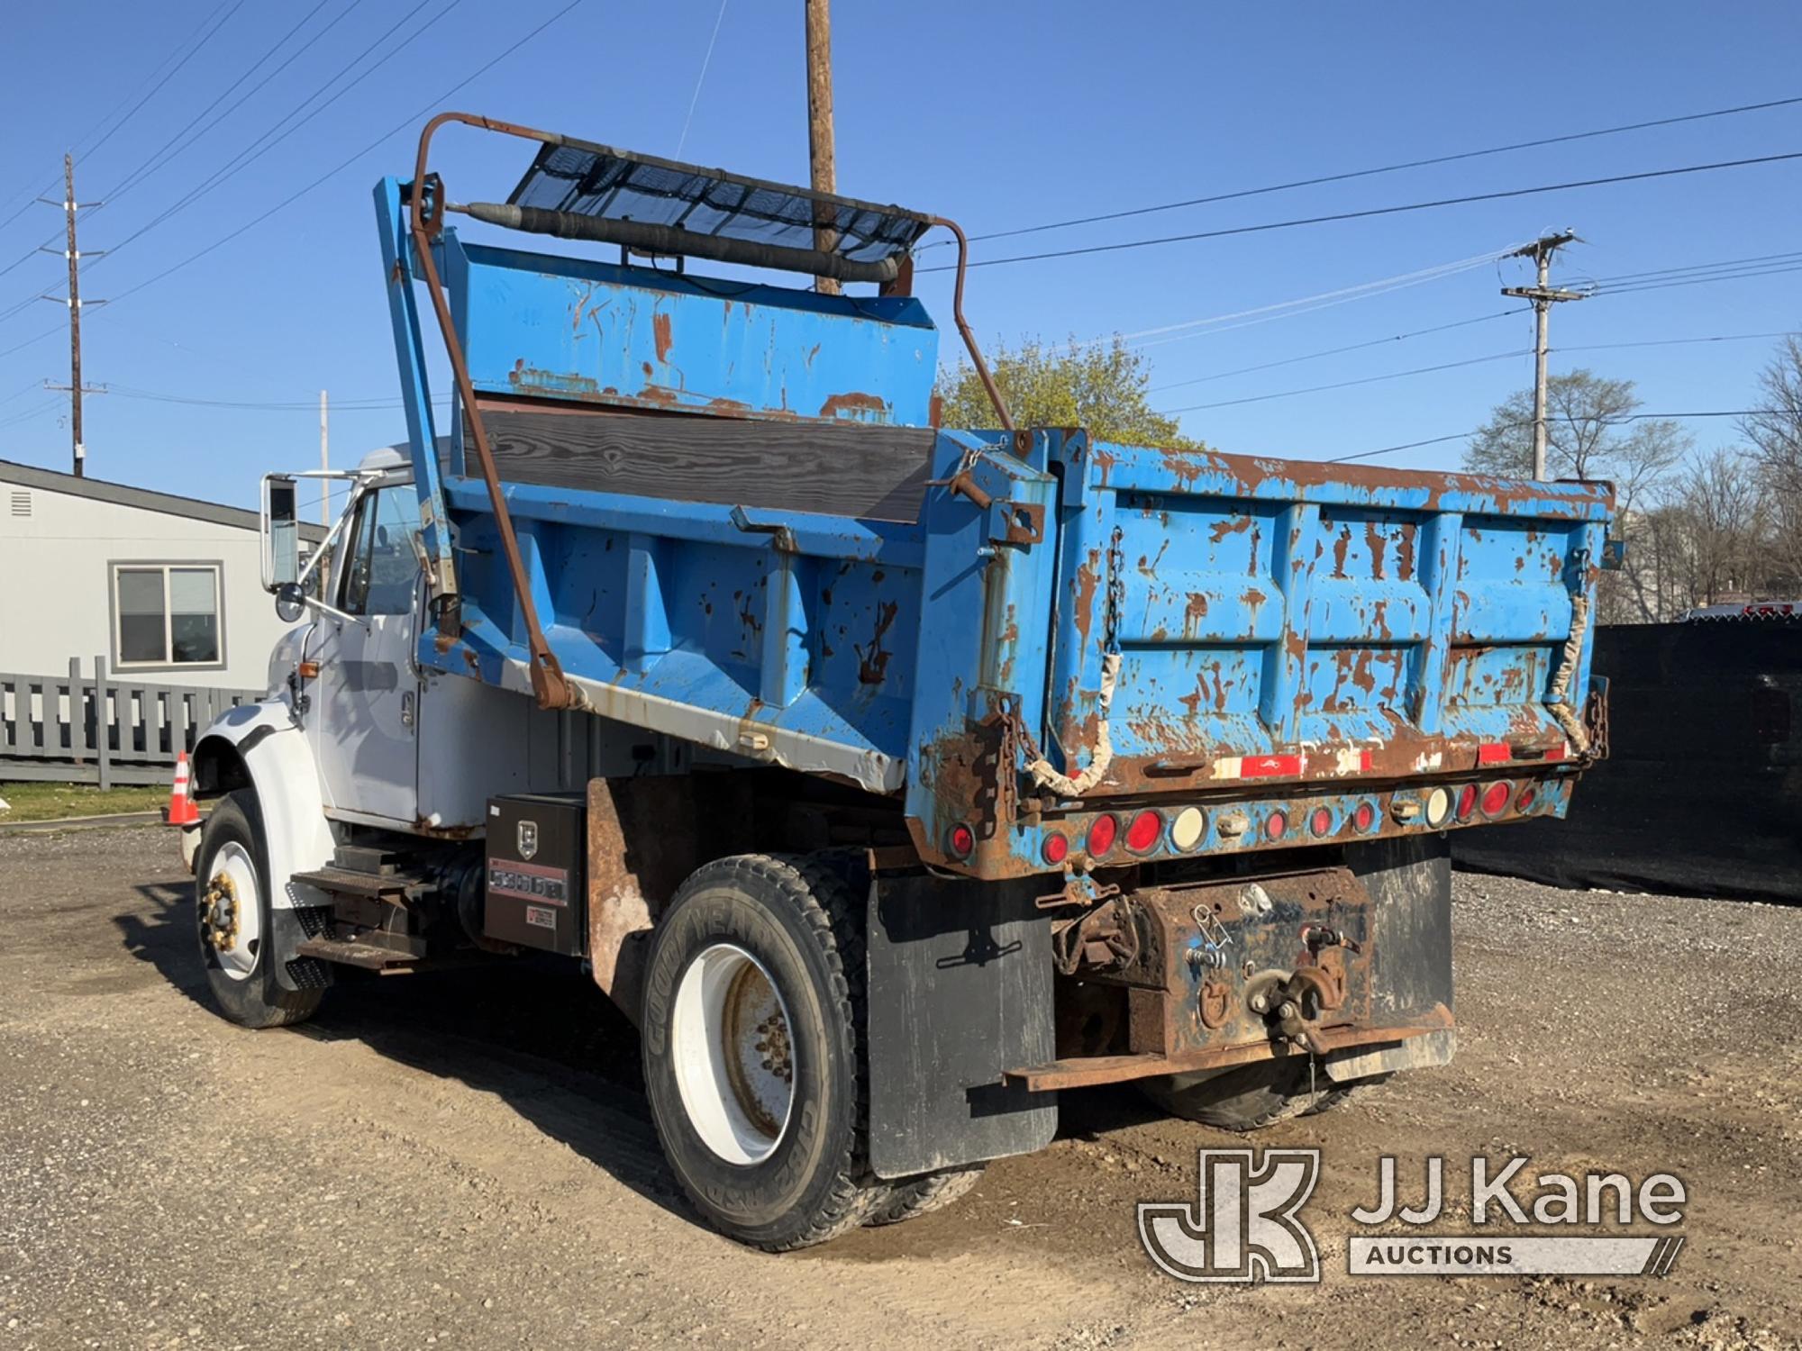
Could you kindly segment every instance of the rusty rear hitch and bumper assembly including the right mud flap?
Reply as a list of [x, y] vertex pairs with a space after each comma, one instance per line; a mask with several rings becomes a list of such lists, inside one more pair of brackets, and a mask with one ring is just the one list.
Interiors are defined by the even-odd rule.
[[1330, 1077], [1451, 1059], [1451, 868], [1438, 834], [1353, 845], [1337, 866], [1117, 893], [1058, 915], [1052, 949], [1065, 976], [1058, 1054], [1006, 1072], [1027, 1092], [1288, 1056], [1315, 1057]]

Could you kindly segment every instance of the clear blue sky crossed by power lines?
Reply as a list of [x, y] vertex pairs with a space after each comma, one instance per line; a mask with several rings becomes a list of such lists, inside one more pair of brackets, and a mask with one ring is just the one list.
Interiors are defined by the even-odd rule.
[[[414, 9], [416, 2], [324, 0], [317, 11], [317, 0], [281, 7], [72, 2], [9, 14], [0, 220], [18, 214], [0, 225], [0, 268], [16, 263], [0, 276], [0, 458], [52, 468], [68, 463], [65, 409], [38, 387], [68, 376], [61, 312], [25, 303], [40, 290], [61, 294], [63, 261], [31, 254], [52, 234], [59, 240], [61, 218], [52, 207], [25, 204], [59, 189], [61, 153], [70, 146], [77, 196], [106, 202], [85, 213], [81, 243], [117, 247], [85, 265], [83, 290], [121, 297], [86, 312], [85, 376], [114, 389], [86, 402], [90, 474], [247, 504], [261, 472], [315, 463], [310, 405], [319, 389], [330, 389], [337, 405], [371, 403], [333, 414], [333, 459], [400, 440], [369, 187], [384, 173], [407, 171], [416, 113], [443, 106], [440, 95], [568, 4], [425, 0]], [[719, 14], [717, 0], [580, 0], [447, 104], [674, 155]], [[346, 88], [375, 61], [368, 52], [386, 52], [429, 20], [398, 58]], [[150, 92], [146, 77], [213, 22], [218, 29], [205, 45]], [[240, 106], [133, 182], [139, 166], [296, 23], [287, 45], [200, 124], [249, 94]], [[391, 29], [395, 36], [378, 41]], [[268, 74], [310, 38], [314, 45], [292, 65]], [[1534, 50], [1541, 54], [1530, 58]], [[840, 187], [955, 216], [971, 232], [1000, 231], [1795, 97], [1802, 95], [1797, 50], [1802, 11], [1775, 0], [1588, 4], [1544, 18], [1447, 4], [840, 0]], [[341, 97], [216, 191], [130, 238], [346, 67], [332, 86]], [[132, 110], [144, 94], [142, 106], [96, 146], [112, 126], [108, 113]], [[407, 130], [270, 220], [153, 281], [400, 124]], [[474, 137], [441, 144], [452, 195], [461, 186], [465, 196], [499, 198], [521, 168], [512, 146]], [[977, 245], [977, 256], [1786, 151], [1802, 151], [1802, 104], [991, 240]], [[683, 157], [771, 178], [805, 177], [798, 0], [728, 0]], [[1798, 207], [1802, 160], [984, 267], [971, 274], [968, 310], [986, 339], [1141, 333], [1434, 268], [1562, 227], [1577, 229], [1586, 243], [1566, 254], [1561, 279], [1606, 279], [1795, 252], [1802, 249]], [[1517, 281], [1524, 281], [1523, 265], [1488, 263], [1305, 313], [1179, 330], [1180, 337], [1146, 346], [1155, 364], [1153, 402], [1166, 409], [1218, 403], [1519, 351], [1532, 340], [1530, 315], [1222, 375], [1497, 313], [1514, 304], [1497, 286]], [[950, 328], [942, 277], [924, 277], [921, 294]], [[1553, 348], [1795, 328], [1802, 328], [1802, 272], [1564, 304], [1553, 315]], [[1559, 351], [1553, 369], [1586, 364], [1633, 378], [1649, 411], [1739, 409], [1771, 346]], [[1355, 454], [1474, 427], [1492, 403], [1528, 384], [1530, 371], [1526, 357], [1476, 360], [1200, 409], [1184, 414], [1184, 427], [1224, 450]], [[1198, 376], [1213, 378], [1179, 384]], [[1703, 449], [1732, 440], [1728, 420], [1690, 425]], [[1460, 450], [1452, 441], [1382, 463], [1452, 467]]]

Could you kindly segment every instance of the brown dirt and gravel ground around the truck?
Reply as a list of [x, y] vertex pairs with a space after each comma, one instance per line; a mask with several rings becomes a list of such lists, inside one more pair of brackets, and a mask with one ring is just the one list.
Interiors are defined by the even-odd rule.
[[[1240, 1288], [1141, 1250], [1133, 1203], [1234, 1137], [1132, 1090], [1067, 1095], [948, 1212], [768, 1257], [685, 1210], [580, 975], [368, 980], [241, 1032], [187, 906], [159, 830], [0, 838], [0, 1351], [1802, 1344], [1802, 910], [1460, 877], [1456, 1063], [1258, 1137], [1324, 1151], [1326, 1277]], [[1661, 1281], [1350, 1277], [1384, 1153], [1670, 1171], [1688, 1243]]]

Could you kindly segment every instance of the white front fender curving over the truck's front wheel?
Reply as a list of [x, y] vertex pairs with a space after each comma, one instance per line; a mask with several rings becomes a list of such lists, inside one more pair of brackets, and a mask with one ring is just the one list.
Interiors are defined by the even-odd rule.
[[[317, 985], [321, 962], [294, 962], [290, 953], [306, 937], [297, 910], [330, 906], [324, 892], [299, 884], [297, 872], [332, 863], [337, 841], [326, 821], [319, 793], [319, 773], [306, 733], [294, 724], [279, 699], [240, 704], [220, 717], [195, 746], [195, 785], [200, 794], [216, 796], [238, 787], [256, 793], [263, 830], [263, 857], [268, 865], [268, 904], [274, 920], [276, 978], [287, 989]], [[305, 966], [305, 980], [296, 978]], [[314, 971], [321, 967], [323, 971]]]

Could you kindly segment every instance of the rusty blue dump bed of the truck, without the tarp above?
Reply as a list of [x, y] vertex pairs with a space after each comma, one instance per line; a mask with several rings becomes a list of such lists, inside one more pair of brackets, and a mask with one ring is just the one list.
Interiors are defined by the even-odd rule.
[[[896, 286], [517, 252], [420, 232], [405, 184], [377, 204], [427, 666], [887, 794], [978, 877], [1562, 816], [1602, 753], [1607, 485], [933, 429], [937, 330]], [[467, 367], [443, 427], [425, 294]]]

